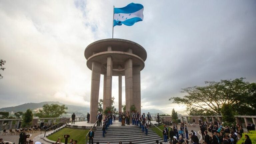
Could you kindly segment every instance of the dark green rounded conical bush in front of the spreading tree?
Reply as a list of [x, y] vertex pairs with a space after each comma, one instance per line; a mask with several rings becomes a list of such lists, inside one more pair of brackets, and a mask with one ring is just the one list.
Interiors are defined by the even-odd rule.
[[223, 104], [221, 108], [222, 120], [224, 122], [233, 123], [235, 122], [233, 108], [230, 104]]

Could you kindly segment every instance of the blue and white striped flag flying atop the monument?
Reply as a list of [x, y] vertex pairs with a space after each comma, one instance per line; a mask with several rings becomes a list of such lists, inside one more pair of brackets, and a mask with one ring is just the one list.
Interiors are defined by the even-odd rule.
[[114, 25], [132, 26], [143, 20], [144, 7], [141, 4], [130, 3], [123, 8], [114, 8]]

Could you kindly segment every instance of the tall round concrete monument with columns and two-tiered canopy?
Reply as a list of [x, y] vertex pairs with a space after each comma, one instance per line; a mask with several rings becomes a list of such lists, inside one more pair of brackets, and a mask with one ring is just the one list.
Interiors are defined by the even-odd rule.
[[125, 76], [126, 111], [135, 105], [141, 113], [140, 71], [145, 66], [146, 50], [139, 44], [124, 39], [103, 39], [89, 44], [84, 56], [92, 70], [90, 122], [96, 122], [98, 113], [100, 75], [103, 82], [103, 111], [111, 106], [112, 76], [118, 76], [118, 109], [122, 110], [122, 76]]

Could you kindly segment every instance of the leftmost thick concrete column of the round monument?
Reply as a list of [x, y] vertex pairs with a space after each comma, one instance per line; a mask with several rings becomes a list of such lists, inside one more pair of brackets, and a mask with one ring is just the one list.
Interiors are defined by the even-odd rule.
[[99, 89], [100, 89], [100, 72], [101, 63], [92, 62], [92, 81], [91, 81], [91, 105], [90, 105], [90, 122], [96, 122], [98, 113]]

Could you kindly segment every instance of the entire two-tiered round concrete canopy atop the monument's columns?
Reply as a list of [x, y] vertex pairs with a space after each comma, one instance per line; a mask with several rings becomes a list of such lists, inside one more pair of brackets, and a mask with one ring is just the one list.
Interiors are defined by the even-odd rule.
[[[108, 46], [111, 46], [112, 51], [107, 51]], [[132, 53], [128, 53], [128, 49], [132, 49]], [[106, 74], [107, 57], [111, 56], [113, 76], [120, 74], [124, 76], [124, 65], [127, 59], [131, 58], [133, 66], [139, 66], [142, 70], [147, 58], [147, 52], [141, 45], [123, 39], [103, 39], [93, 42], [86, 47], [84, 55], [90, 70], [92, 70], [93, 61], [101, 63], [101, 74]]]

